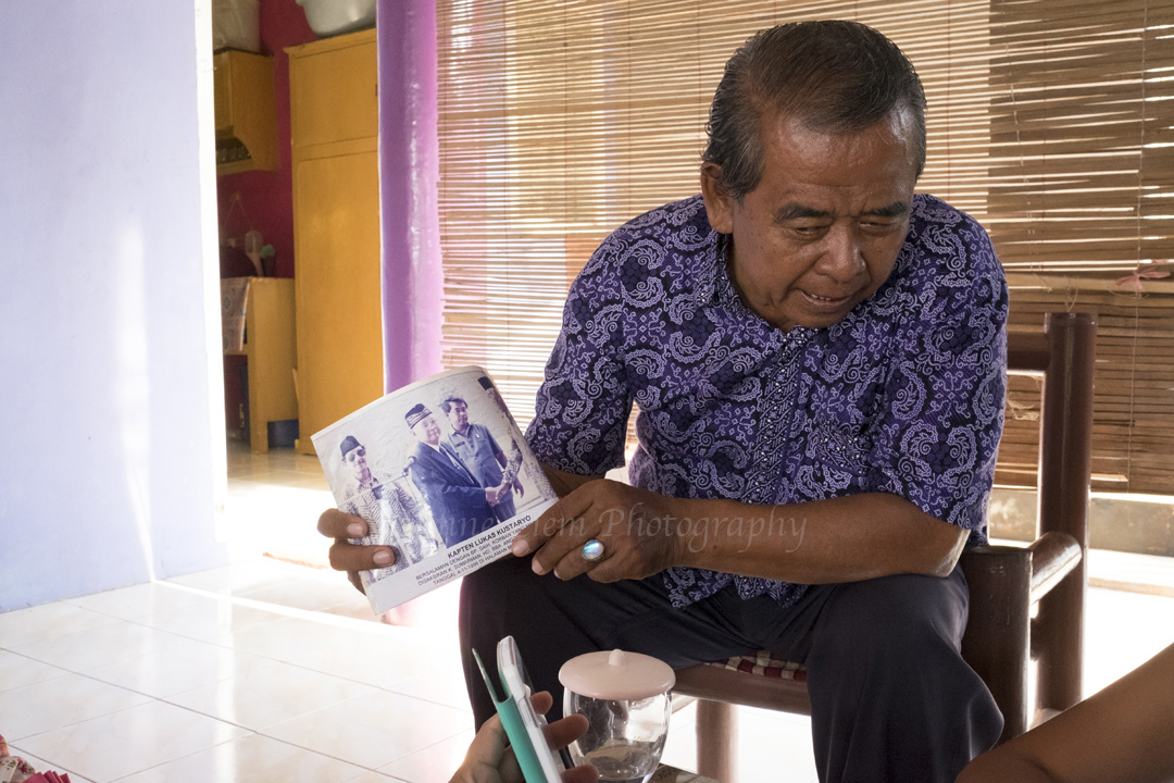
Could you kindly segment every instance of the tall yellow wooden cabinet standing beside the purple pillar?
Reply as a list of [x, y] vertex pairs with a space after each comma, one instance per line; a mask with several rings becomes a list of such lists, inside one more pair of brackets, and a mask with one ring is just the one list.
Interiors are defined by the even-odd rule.
[[383, 394], [375, 31], [286, 49], [294, 143], [297, 451]]

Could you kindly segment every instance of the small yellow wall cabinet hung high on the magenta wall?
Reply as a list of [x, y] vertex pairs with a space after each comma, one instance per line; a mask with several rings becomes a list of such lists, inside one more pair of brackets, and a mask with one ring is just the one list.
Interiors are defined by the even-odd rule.
[[274, 59], [229, 49], [212, 68], [216, 174], [277, 170]]

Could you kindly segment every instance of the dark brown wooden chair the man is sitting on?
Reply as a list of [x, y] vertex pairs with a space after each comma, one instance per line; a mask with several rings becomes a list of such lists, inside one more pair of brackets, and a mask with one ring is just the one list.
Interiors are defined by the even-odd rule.
[[[1044, 335], [1007, 337], [1008, 371], [1044, 376], [1037, 540], [962, 556], [971, 593], [962, 654], [1003, 710], [1000, 742], [1080, 701], [1095, 343], [1088, 313], [1048, 313]], [[700, 700], [701, 775], [736, 781], [735, 704], [811, 714], [803, 668], [769, 659], [760, 653], [677, 671], [674, 691]]]

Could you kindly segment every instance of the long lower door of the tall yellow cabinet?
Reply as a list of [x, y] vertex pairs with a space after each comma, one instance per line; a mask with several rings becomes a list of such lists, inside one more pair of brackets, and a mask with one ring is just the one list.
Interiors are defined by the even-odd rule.
[[377, 153], [297, 161], [299, 445], [383, 394]]

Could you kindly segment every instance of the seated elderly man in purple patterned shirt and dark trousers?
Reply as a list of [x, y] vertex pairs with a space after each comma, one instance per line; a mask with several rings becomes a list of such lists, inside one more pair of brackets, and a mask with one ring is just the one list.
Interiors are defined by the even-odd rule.
[[[587, 650], [769, 649], [807, 666], [824, 782], [952, 781], [994, 743], [957, 560], [986, 535], [1007, 295], [981, 227], [913, 194], [924, 108], [862, 25], [735, 53], [701, 195], [621, 227], [571, 288], [527, 433], [562, 499], [465, 578], [466, 654], [513, 634], [558, 702]], [[601, 477], [633, 400], [627, 486]]]

